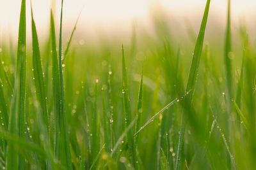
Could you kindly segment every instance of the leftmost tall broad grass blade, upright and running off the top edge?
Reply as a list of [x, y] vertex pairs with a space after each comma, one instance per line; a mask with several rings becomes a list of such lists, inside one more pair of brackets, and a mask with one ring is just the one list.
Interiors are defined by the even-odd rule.
[[[15, 77], [15, 94], [10, 115], [10, 133], [25, 136], [25, 95], [26, 95], [26, 1], [22, 0], [20, 8], [19, 40], [17, 48], [17, 67]], [[18, 119], [17, 119], [18, 118]], [[18, 120], [18, 122], [17, 122]], [[18, 126], [17, 126], [18, 125]], [[18, 128], [18, 129], [17, 129]], [[19, 157], [19, 162], [17, 162]], [[13, 142], [8, 143], [6, 168], [24, 169], [25, 159], [18, 155]]]

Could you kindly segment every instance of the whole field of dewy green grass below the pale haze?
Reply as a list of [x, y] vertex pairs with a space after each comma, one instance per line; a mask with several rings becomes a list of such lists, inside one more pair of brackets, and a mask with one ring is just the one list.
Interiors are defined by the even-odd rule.
[[256, 169], [254, 39], [228, 0], [211, 45], [210, 3], [181, 45], [154, 18], [154, 36], [82, 46], [76, 25], [62, 40], [65, 1], [44, 42], [22, 0], [17, 46], [0, 44], [0, 169]]

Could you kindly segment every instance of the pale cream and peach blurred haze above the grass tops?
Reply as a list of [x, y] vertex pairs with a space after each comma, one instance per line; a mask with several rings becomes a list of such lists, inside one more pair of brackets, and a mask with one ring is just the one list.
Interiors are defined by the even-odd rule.
[[[1, 39], [17, 39], [20, 0], [0, 0], [0, 35]], [[30, 1], [27, 1], [27, 29], [28, 37], [31, 36]], [[38, 29], [39, 38], [45, 40], [49, 33], [50, 8], [56, 14], [56, 21], [60, 18], [61, 0], [32, 0], [33, 12]], [[152, 18], [163, 18], [168, 21], [172, 31], [177, 30], [178, 35], [184, 34], [186, 28], [191, 27], [198, 31], [204, 12], [205, 0], [65, 0], [63, 6], [63, 31], [64, 39], [68, 39], [72, 28], [83, 8], [81, 18], [77, 25], [75, 41], [95, 41], [102, 36], [113, 36], [120, 41], [131, 37], [132, 27], [137, 30], [154, 32]], [[232, 2], [233, 28], [239, 26], [243, 20], [248, 25], [251, 36], [255, 35], [255, 9], [254, 0], [233, 0]], [[227, 1], [211, 1], [209, 11], [208, 31], [223, 34], [227, 13]], [[237, 28], [238, 29], [238, 28]], [[236, 32], [236, 30], [235, 30]], [[65, 34], [66, 33], [66, 34]], [[180, 36], [180, 35], [179, 35]], [[30, 41], [31, 38], [28, 38]], [[122, 40], [121, 40], [122, 39]]]

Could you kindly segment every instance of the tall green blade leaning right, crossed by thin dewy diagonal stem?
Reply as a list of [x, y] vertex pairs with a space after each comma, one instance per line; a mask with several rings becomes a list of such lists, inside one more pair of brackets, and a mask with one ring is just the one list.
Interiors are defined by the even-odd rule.
[[[207, 0], [206, 6], [205, 6], [204, 17], [202, 19], [202, 23], [201, 23], [201, 26], [200, 26], [200, 31], [199, 31], [198, 37], [196, 39], [196, 45], [195, 45], [195, 50], [194, 50], [194, 54], [193, 54], [193, 60], [192, 60], [192, 64], [191, 64], [190, 71], [189, 71], [188, 83], [187, 83], [187, 87], [186, 87], [187, 91], [192, 90], [192, 92], [188, 95], [188, 97], [186, 97], [186, 100], [188, 101], [186, 103], [188, 103], [189, 105], [191, 104], [191, 101], [192, 101], [192, 98], [193, 98], [193, 93], [194, 93], [194, 90], [195, 90], [195, 83], [196, 83], [196, 78], [197, 78], [197, 75], [198, 75], [198, 68], [199, 68], [199, 65], [200, 65], [200, 57], [201, 57], [201, 54], [202, 54], [202, 48], [203, 48], [203, 43], [204, 43], [204, 33], [205, 33], [205, 27], [206, 27], [206, 24], [207, 24], [210, 2], [211, 2], [211, 0]], [[188, 106], [188, 107], [190, 107], [190, 106]], [[179, 169], [180, 151], [182, 149], [184, 131], [185, 131], [185, 129], [184, 129], [184, 115], [183, 115], [183, 111], [182, 111], [175, 170]]]

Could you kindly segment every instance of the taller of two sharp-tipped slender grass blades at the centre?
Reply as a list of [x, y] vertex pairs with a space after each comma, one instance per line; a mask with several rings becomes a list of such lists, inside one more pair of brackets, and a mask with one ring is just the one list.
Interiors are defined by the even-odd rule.
[[[122, 73], [123, 73], [123, 102], [124, 102], [124, 117], [125, 117], [125, 127], [127, 127], [131, 123], [131, 106], [129, 99], [129, 91], [127, 85], [127, 73], [125, 66], [125, 58], [124, 58], [124, 45], [122, 45]], [[127, 133], [128, 139], [128, 148], [129, 148], [129, 159], [134, 168], [136, 168], [136, 149], [134, 147], [134, 139], [132, 138], [132, 130]]]

